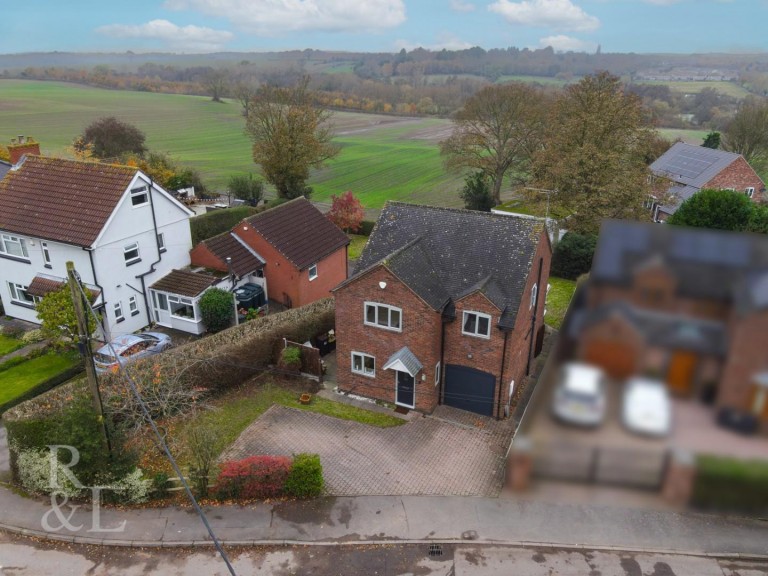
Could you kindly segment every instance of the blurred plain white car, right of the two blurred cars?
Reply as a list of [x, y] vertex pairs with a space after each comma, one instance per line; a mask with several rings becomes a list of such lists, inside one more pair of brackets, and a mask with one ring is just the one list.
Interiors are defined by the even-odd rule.
[[624, 426], [648, 436], [666, 436], [672, 430], [672, 401], [667, 385], [653, 378], [633, 376], [624, 388], [621, 409]]

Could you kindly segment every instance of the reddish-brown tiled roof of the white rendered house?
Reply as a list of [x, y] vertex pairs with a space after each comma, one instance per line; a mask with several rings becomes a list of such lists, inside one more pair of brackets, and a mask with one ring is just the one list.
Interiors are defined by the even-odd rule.
[[0, 229], [92, 246], [136, 168], [27, 156], [0, 180]]

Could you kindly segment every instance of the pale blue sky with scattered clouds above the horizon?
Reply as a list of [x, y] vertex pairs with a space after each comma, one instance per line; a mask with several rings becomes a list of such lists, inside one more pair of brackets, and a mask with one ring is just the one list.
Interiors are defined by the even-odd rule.
[[765, 52], [768, 0], [28, 0], [0, 53], [543, 48]]

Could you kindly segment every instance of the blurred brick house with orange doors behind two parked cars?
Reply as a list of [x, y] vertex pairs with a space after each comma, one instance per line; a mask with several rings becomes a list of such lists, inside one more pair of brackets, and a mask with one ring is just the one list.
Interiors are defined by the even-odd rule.
[[768, 236], [606, 221], [584, 298], [565, 329], [579, 358], [768, 427]]

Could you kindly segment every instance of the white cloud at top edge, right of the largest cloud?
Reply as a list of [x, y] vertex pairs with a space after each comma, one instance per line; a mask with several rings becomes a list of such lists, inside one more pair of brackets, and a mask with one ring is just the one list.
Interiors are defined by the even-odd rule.
[[589, 32], [600, 27], [600, 20], [590, 16], [571, 0], [496, 0], [488, 10], [501, 14], [510, 24]]

